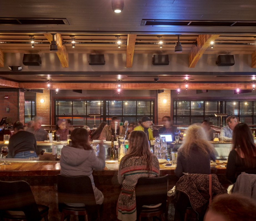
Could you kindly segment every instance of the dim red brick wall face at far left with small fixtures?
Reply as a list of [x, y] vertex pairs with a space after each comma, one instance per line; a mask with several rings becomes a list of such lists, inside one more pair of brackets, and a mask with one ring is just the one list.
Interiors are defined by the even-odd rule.
[[[4, 99], [4, 96], [7, 95], [9, 96], [9, 99]], [[6, 111], [6, 107], [10, 108], [9, 112]], [[14, 123], [16, 120], [19, 119], [18, 92], [0, 92], [0, 115], [1, 119], [2, 117], [12, 118], [11, 123]]]

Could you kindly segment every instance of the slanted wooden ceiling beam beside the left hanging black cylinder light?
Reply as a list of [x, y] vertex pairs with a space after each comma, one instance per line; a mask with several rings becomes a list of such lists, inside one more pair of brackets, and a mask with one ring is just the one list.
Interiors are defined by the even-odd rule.
[[[46, 33], [44, 36], [48, 39], [49, 42], [52, 41], [52, 34]], [[56, 41], [56, 45], [58, 46], [58, 51], [56, 51], [59, 60], [61, 61], [62, 67], [69, 66], [69, 57], [68, 51], [66, 49], [66, 45], [62, 45], [62, 36], [61, 34], [55, 34], [54, 39]]]

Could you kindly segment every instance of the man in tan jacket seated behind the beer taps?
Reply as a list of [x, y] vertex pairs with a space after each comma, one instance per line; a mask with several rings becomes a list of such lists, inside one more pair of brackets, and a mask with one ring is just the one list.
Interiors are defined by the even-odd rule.
[[[119, 129], [120, 119], [118, 117], [112, 117], [111, 124], [103, 128], [101, 132], [100, 140], [111, 141], [111, 136], [115, 135], [115, 122], [117, 122], [116, 135], [120, 134], [120, 129]], [[122, 135], [124, 134], [125, 134], [125, 131], [124, 131], [124, 128], [122, 128]]]

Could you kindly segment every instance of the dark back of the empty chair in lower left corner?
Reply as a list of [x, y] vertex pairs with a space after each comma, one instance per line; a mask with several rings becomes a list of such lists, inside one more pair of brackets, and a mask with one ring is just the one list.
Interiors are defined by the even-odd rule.
[[41, 220], [34, 195], [25, 181], [0, 181], [0, 208], [23, 211], [28, 221]]

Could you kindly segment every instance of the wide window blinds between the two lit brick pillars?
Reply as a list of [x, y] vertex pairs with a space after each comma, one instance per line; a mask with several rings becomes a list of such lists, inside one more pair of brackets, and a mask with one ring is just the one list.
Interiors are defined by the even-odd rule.
[[[88, 125], [94, 127], [94, 117], [89, 114], [101, 114], [96, 117], [96, 126], [101, 122], [111, 122], [113, 116], [120, 118], [121, 122], [128, 120], [131, 122], [139, 121], [143, 116], [148, 116], [154, 120], [155, 101], [153, 100], [54, 100], [54, 123], [58, 119], [66, 119], [72, 125]], [[153, 121], [154, 122], [154, 121]]]

